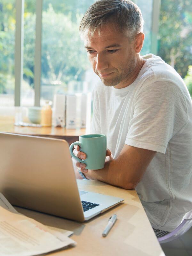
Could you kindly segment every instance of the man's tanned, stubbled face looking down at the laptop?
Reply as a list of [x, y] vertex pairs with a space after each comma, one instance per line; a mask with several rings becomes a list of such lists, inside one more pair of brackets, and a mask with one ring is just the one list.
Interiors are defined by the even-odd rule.
[[107, 86], [124, 87], [126, 79], [136, 66], [133, 43], [113, 26], [104, 27], [98, 36], [84, 33], [84, 45], [94, 72]]

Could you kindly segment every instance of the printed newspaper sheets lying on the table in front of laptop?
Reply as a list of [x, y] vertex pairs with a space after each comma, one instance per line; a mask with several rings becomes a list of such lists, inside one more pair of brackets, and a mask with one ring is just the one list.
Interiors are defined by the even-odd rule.
[[71, 231], [45, 226], [18, 213], [0, 193], [0, 255], [32, 256], [76, 242]]

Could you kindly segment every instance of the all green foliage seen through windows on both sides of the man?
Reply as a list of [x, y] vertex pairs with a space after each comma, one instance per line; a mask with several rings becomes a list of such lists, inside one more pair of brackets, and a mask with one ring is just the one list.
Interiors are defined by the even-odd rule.
[[[50, 4], [52, 2], [52, 4]], [[42, 84], [60, 80], [81, 81], [89, 67], [78, 26], [86, 9], [95, 0], [44, 0], [42, 14]], [[143, 5], [145, 12], [147, 4]], [[143, 15], [145, 16], [145, 15]], [[24, 79], [34, 86], [36, 10], [34, 0], [25, 0]], [[150, 31], [146, 32], [146, 45]], [[159, 19], [158, 55], [188, 83], [192, 65], [192, 12], [190, 0], [162, 0]], [[149, 48], [149, 47], [148, 47]], [[146, 48], [146, 50], [148, 50]], [[0, 93], [14, 93], [15, 0], [0, 0]], [[146, 54], [148, 52], [143, 52]], [[189, 77], [189, 78], [188, 78]], [[188, 82], [189, 81], [189, 82]], [[190, 91], [191, 92], [191, 91]], [[192, 95], [192, 92], [191, 92]]]

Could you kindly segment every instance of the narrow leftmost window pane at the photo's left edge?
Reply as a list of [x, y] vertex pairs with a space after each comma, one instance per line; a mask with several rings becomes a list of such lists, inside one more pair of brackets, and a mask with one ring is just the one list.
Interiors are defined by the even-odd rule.
[[15, 0], [0, 1], [0, 107], [14, 106]]

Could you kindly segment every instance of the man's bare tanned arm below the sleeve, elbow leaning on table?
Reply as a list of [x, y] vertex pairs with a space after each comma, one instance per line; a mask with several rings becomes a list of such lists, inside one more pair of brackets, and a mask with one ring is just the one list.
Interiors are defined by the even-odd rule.
[[[79, 156], [78, 154], [77, 156]], [[89, 170], [88, 172], [85, 170], [84, 172], [79, 162], [76, 163], [76, 166], [81, 167], [81, 172], [84, 172], [87, 179], [100, 180], [125, 189], [134, 189], [155, 154], [155, 151], [125, 144], [119, 156], [108, 161], [100, 170]]]

